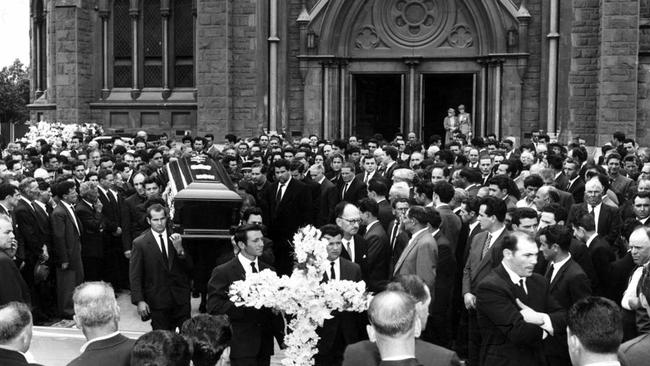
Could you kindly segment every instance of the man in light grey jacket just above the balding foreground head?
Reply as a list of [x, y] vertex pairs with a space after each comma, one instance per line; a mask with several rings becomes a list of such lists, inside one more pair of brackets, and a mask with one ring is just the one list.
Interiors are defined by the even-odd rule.
[[406, 248], [395, 264], [393, 276], [420, 276], [433, 294], [438, 265], [438, 245], [429, 232], [429, 215], [422, 206], [412, 206], [406, 213], [404, 229], [411, 234]]

